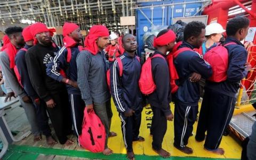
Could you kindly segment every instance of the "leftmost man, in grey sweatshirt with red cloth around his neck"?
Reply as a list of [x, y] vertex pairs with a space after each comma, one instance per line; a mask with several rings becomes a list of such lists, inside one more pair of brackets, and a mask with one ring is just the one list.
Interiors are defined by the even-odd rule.
[[[40, 140], [40, 131], [37, 126], [36, 111], [34, 105], [31, 103], [31, 99], [28, 97], [27, 93], [20, 86], [17, 77], [14, 72], [15, 68], [15, 56], [18, 50], [24, 45], [24, 40], [22, 38], [22, 28], [21, 27], [9, 27], [5, 30], [6, 35], [10, 39], [10, 43], [6, 45], [4, 51], [0, 54], [0, 65], [2, 67], [2, 72], [5, 75], [5, 83], [7, 83], [10, 89], [7, 89], [7, 97], [18, 96], [21, 105], [23, 106], [28, 121], [31, 125], [31, 131], [34, 134], [34, 140]], [[15, 96], [14, 96], [15, 97]]]

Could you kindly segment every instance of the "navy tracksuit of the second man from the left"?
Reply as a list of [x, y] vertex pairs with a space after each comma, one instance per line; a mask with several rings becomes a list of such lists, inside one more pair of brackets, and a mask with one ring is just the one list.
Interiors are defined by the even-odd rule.
[[[24, 48], [29, 49], [32, 46], [25, 45]], [[36, 98], [39, 98], [36, 91], [34, 90], [30, 79], [28, 75], [28, 68], [25, 58], [26, 51], [25, 50], [19, 50], [17, 55], [15, 56], [15, 65], [17, 66], [17, 69], [20, 74], [21, 84], [24, 87], [24, 90], [28, 94], [28, 96], [33, 100]], [[42, 131], [42, 133], [47, 137], [51, 135], [51, 129], [48, 125], [48, 116], [46, 114], [46, 104], [44, 103], [44, 100], [42, 99], [40, 103], [34, 103], [34, 106], [36, 108], [36, 115], [37, 115], [37, 123]]]

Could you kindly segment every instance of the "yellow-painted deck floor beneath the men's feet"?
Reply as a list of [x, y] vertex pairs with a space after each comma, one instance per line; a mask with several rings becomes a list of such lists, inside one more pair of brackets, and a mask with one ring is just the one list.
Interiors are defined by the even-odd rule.
[[[124, 147], [124, 142], [122, 138], [122, 131], [121, 131], [121, 120], [118, 117], [118, 113], [116, 111], [116, 108], [114, 106], [114, 103], [112, 102], [112, 111], [113, 111], [113, 119], [111, 123], [111, 131], [114, 131], [118, 134], [117, 137], [109, 138], [108, 145], [111, 149], [114, 150], [114, 153], [121, 153], [125, 154], [126, 150]], [[199, 106], [201, 104], [199, 103]], [[174, 105], [171, 104], [171, 110], [174, 113]], [[151, 123], [151, 117], [153, 116], [153, 113], [151, 112], [151, 109], [149, 106], [143, 108], [142, 111], [142, 117], [141, 117], [141, 127], [140, 127], [140, 136], [145, 138], [144, 142], [133, 142], [133, 150], [135, 154], [145, 154], [145, 155], [157, 155], [152, 149], [151, 149], [151, 142], [152, 137], [150, 136], [150, 130], [148, 128], [149, 123]], [[186, 157], [186, 156], [192, 156], [192, 157], [209, 157], [209, 158], [241, 158], [241, 151], [242, 147], [239, 145], [233, 138], [230, 136], [223, 136], [220, 147], [225, 149], [224, 155], [215, 155], [212, 153], [209, 153], [208, 151], [205, 151], [203, 148], [204, 141], [203, 142], [196, 142], [195, 140], [195, 133], [196, 133], [196, 127], [197, 122], [194, 124], [194, 136], [191, 136], [188, 141], [188, 147], [193, 148], [194, 153], [191, 155], [187, 155], [182, 153], [180, 150], [174, 148], [173, 141], [174, 141], [174, 129], [173, 129], [173, 121], [167, 122], [167, 131], [164, 137], [163, 145], [162, 147], [166, 149], [167, 151], [170, 151], [172, 156], [180, 156], [180, 157]]]

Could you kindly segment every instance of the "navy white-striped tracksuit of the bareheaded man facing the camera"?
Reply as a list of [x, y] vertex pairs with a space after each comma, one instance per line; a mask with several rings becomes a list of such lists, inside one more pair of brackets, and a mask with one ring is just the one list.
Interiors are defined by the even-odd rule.
[[[141, 123], [142, 95], [139, 89], [141, 63], [134, 56], [124, 53], [119, 57], [123, 64], [122, 77], [119, 75], [119, 65], [115, 61], [110, 67], [110, 89], [119, 117], [122, 121], [122, 132], [125, 147], [132, 151], [132, 141], [138, 140]], [[124, 113], [133, 110], [132, 116]]]

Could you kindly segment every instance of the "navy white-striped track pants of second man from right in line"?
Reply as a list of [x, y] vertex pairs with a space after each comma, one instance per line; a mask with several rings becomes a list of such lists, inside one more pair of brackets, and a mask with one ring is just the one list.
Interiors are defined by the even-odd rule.
[[187, 106], [177, 101], [174, 106], [174, 146], [183, 148], [188, 144], [188, 138], [193, 131], [198, 105]]

